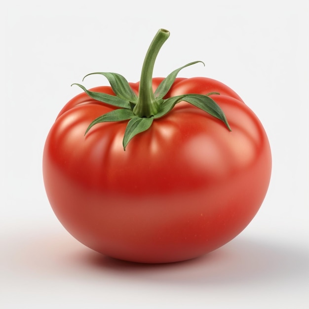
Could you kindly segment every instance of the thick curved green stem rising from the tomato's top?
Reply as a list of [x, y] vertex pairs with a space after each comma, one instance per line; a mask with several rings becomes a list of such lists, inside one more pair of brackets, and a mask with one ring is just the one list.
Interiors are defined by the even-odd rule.
[[151, 42], [142, 67], [138, 101], [133, 113], [139, 117], [151, 117], [158, 112], [158, 102], [154, 98], [153, 72], [156, 56], [169, 37], [169, 31], [160, 29]]

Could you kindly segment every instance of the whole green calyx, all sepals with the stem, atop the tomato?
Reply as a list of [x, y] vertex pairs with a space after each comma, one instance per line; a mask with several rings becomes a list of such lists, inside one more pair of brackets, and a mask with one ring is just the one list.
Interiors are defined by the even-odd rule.
[[196, 106], [197, 108], [205, 111], [211, 116], [220, 119], [231, 131], [230, 125], [223, 111], [221, 110], [219, 105], [211, 97], [209, 97], [209, 95], [211, 94], [219, 95], [219, 93], [212, 92], [206, 95], [183, 94], [163, 99], [173, 85], [178, 73], [182, 69], [193, 64], [203, 62], [194, 61], [173, 71], [161, 81], [155, 92], [153, 92], [152, 75], [154, 70], [154, 62], [160, 48], [162, 47], [163, 43], [168, 39], [168, 37], [169, 32], [167, 30], [159, 29], [153, 41], [151, 42], [142, 68], [138, 95], [136, 95], [135, 92], [132, 90], [125, 77], [117, 73], [95, 72], [85, 76], [87, 77], [93, 74], [100, 74], [105, 76], [108, 79], [115, 95], [89, 91], [81, 84], [74, 83], [74, 85], [79, 86], [91, 98], [117, 107], [116, 110], [94, 119], [89, 124], [85, 134], [87, 134], [87, 132], [93, 125], [100, 122], [129, 120], [122, 141], [123, 150], [125, 150], [129, 141], [135, 135], [148, 130], [155, 119], [158, 119], [168, 114], [173, 109], [173, 107], [181, 101], [186, 101]]

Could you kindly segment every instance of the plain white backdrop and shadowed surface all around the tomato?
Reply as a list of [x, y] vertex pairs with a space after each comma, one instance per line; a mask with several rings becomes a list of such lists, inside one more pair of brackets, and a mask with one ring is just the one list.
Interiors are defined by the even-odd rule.
[[[51, 3], [51, 4], [46, 4]], [[309, 308], [307, 0], [39, 1], [1, 5], [0, 307]], [[232, 87], [268, 133], [266, 199], [234, 240], [170, 265], [113, 261], [81, 245], [46, 198], [46, 135], [87, 73], [140, 77], [159, 28], [154, 76]], [[107, 84], [89, 77], [84, 84]]]

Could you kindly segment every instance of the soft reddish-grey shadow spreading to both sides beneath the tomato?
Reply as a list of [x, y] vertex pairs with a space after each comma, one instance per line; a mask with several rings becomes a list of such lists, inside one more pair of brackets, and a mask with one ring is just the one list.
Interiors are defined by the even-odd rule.
[[62, 230], [59, 234], [46, 231], [38, 236], [35, 228], [29, 233], [12, 233], [2, 238], [7, 242], [2, 258], [10, 269], [39, 279], [91, 275], [99, 282], [109, 278], [125, 284], [151, 282], [185, 287], [226, 284], [230, 287], [265, 282], [302, 285], [308, 284], [309, 278], [309, 248], [300, 242], [291, 245], [239, 235], [200, 258], [169, 264], [139, 264], [99, 254]]

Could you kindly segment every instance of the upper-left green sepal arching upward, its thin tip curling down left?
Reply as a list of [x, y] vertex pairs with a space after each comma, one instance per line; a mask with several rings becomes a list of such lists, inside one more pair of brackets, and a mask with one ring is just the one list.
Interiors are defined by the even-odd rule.
[[[116, 96], [121, 99], [128, 100], [132, 103], [137, 103], [137, 95], [132, 90], [131, 86], [129, 85], [128, 81], [120, 74], [117, 73], [109, 73], [109, 72], [95, 72], [87, 74], [85, 77], [93, 74], [100, 74], [105, 76], [111, 84], [113, 91], [115, 92]], [[84, 78], [85, 78], [84, 77]], [[82, 80], [84, 80], [84, 78]]]

